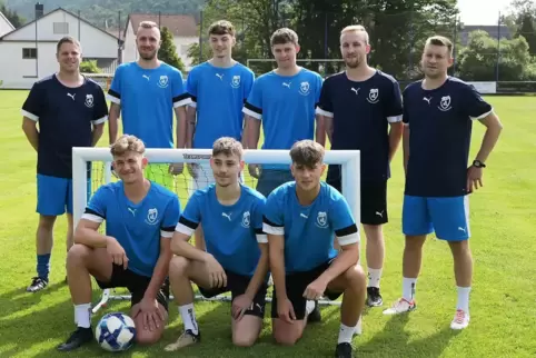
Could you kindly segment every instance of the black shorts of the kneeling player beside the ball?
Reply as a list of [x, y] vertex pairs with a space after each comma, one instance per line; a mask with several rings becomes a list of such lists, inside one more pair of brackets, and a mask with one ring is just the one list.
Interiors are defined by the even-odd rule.
[[[123, 269], [121, 265], [112, 263], [111, 278], [108, 282], [97, 280], [101, 289], [125, 287], [130, 291], [130, 306], [139, 304], [146, 294], [151, 281], [150, 277], [136, 274], [131, 270]], [[157, 301], [168, 310], [169, 299], [169, 281], [163, 282], [158, 291]]]

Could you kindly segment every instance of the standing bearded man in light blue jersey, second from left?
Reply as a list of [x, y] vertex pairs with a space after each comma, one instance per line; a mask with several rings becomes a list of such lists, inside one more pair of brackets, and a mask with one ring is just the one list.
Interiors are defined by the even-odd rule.
[[[185, 147], [186, 109], [190, 99], [180, 71], [158, 59], [160, 30], [151, 21], [142, 21], [136, 33], [139, 59], [118, 67], [108, 99], [109, 141], [118, 135], [118, 119], [122, 116], [123, 132], [138, 137], [147, 148], [173, 148], [173, 109], [177, 117], [177, 148]], [[148, 166], [146, 176], [172, 188], [172, 176], [182, 166]]]

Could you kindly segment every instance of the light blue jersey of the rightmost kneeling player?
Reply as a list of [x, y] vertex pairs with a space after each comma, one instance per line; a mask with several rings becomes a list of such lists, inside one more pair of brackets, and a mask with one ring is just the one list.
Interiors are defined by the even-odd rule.
[[341, 247], [359, 242], [350, 208], [335, 188], [320, 182], [311, 205], [301, 206], [296, 182], [287, 182], [268, 197], [264, 231], [285, 237], [285, 271], [309, 271], [337, 256], [335, 236]]

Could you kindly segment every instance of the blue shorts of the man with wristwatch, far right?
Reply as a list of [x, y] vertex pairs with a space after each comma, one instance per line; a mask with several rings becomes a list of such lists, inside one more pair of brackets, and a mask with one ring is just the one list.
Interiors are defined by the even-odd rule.
[[404, 197], [403, 232], [420, 236], [435, 232], [438, 239], [463, 241], [470, 237], [469, 198]]

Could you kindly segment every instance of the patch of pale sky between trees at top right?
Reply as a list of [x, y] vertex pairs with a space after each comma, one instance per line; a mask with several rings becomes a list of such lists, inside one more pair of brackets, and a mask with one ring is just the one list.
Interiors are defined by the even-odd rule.
[[506, 12], [510, 2], [510, 0], [458, 0], [461, 22], [496, 24], [499, 11]]

